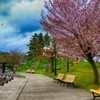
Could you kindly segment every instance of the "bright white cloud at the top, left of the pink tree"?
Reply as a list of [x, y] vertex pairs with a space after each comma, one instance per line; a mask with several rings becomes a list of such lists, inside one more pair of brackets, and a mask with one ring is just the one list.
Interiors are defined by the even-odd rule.
[[[41, 9], [44, 5], [44, 0], [34, 0], [33, 2], [22, 1], [16, 3], [11, 9], [12, 18], [23, 20], [25, 18], [37, 18], [40, 17]], [[16, 16], [16, 17], [15, 17]]]

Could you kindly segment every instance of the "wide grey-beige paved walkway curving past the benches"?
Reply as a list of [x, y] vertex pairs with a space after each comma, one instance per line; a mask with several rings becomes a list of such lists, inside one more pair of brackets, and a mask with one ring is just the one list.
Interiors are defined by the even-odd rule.
[[[54, 83], [49, 77], [39, 74], [21, 74], [0, 87], [0, 100], [92, 100], [92, 94]], [[96, 99], [100, 100], [100, 99]]]

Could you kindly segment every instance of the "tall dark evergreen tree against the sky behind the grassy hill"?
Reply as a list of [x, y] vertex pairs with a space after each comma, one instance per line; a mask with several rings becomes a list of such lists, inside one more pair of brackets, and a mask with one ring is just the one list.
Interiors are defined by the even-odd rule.
[[30, 58], [42, 55], [43, 48], [50, 45], [51, 37], [46, 33], [44, 36], [42, 33], [35, 33], [32, 35], [30, 43], [27, 45], [29, 51], [27, 52]]

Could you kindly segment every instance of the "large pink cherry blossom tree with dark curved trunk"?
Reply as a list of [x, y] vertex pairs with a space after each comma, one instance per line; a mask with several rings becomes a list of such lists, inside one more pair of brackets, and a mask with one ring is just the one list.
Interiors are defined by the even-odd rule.
[[69, 55], [83, 56], [98, 72], [93, 57], [100, 54], [100, 0], [49, 0], [41, 12], [45, 31]]

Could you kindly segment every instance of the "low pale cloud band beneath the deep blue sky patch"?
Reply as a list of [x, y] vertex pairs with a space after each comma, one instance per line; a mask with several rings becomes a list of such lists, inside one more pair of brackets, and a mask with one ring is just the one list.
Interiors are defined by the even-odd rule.
[[[0, 39], [1, 49], [6, 49], [6, 51], [13, 50], [13, 49], [21, 49], [24, 52], [28, 51], [28, 46], [29, 41], [31, 39], [31, 35], [34, 35], [34, 33], [40, 33], [42, 32], [41, 30], [37, 30], [31, 33], [25, 33], [23, 34], [9, 34], [9, 37], [3, 37]], [[44, 31], [42, 32], [44, 33]]]

